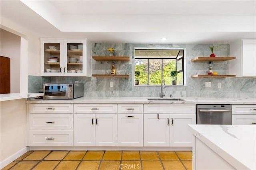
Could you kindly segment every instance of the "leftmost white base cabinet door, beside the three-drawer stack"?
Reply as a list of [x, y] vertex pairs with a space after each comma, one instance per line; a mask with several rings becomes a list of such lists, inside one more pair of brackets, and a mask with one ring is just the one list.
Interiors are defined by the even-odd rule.
[[74, 147], [95, 145], [95, 114], [74, 114]]

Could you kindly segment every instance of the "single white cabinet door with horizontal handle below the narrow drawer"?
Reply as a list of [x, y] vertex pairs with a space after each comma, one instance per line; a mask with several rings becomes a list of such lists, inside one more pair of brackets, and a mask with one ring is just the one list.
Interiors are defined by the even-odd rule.
[[117, 146], [142, 147], [143, 146], [143, 115], [118, 114]]

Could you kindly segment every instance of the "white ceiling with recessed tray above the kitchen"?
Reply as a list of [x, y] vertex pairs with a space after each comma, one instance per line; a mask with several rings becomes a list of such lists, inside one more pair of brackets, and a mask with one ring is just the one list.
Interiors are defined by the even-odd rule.
[[256, 0], [1, 0], [0, 6], [2, 20], [40, 37], [201, 44], [256, 38]]

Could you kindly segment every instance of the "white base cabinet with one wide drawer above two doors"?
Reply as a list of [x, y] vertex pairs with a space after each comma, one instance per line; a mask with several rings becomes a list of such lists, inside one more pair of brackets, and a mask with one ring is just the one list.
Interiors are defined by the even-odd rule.
[[116, 104], [74, 104], [74, 146], [116, 146]]

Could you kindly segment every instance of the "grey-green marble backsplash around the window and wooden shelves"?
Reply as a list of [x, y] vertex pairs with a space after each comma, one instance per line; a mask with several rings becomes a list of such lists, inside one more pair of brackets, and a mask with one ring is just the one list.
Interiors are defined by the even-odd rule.
[[[116, 56], [130, 56], [130, 61], [115, 62], [116, 71], [119, 74], [130, 74], [130, 78], [96, 78], [96, 77], [40, 77], [28, 76], [28, 91], [38, 92], [42, 83], [84, 83], [84, 96], [108, 96], [108, 97], [159, 97], [160, 86], [134, 86], [134, 48], [184, 48], [186, 49], [186, 86], [166, 86], [166, 97], [250, 97], [256, 98], [256, 78], [191, 78], [194, 74], [205, 74], [208, 62], [191, 62], [191, 59], [199, 56], [209, 56], [211, 51], [208, 45], [196, 44], [92, 44], [93, 56], [108, 56], [107, 48], [116, 49]], [[214, 44], [216, 56], [229, 56], [228, 44]], [[110, 71], [112, 61], [92, 60], [92, 74], [105, 74]], [[229, 74], [229, 61], [213, 62], [214, 72]], [[114, 87], [110, 87], [110, 81]], [[211, 88], [205, 87], [205, 82], [211, 82]], [[221, 88], [217, 88], [217, 83]]]

